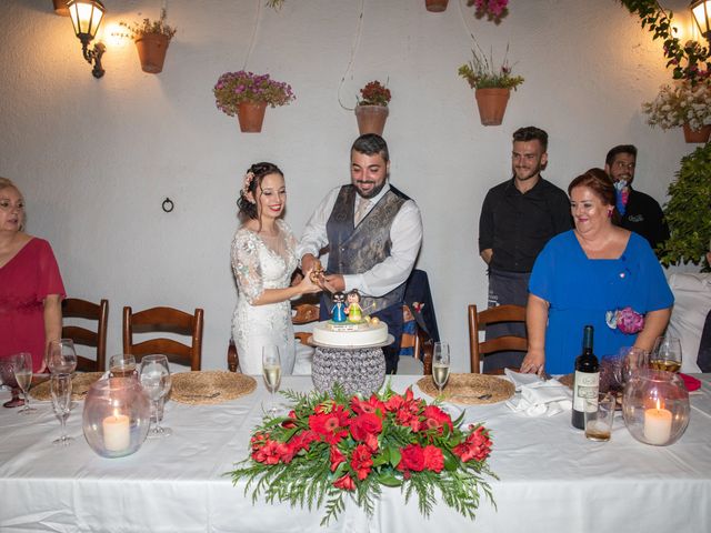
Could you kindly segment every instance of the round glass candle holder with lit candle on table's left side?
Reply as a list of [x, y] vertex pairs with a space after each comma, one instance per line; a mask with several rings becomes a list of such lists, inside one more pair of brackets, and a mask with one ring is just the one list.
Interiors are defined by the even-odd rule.
[[143, 444], [150, 416], [150, 401], [138, 380], [99, 380], [91, 385], [84, 401], [84, 438], [103, 457], [130, 455]]

